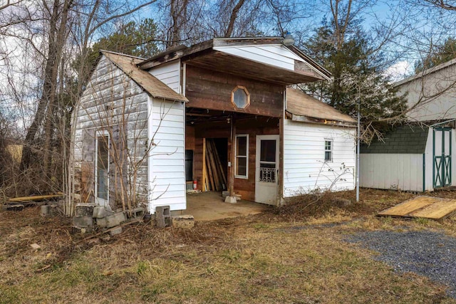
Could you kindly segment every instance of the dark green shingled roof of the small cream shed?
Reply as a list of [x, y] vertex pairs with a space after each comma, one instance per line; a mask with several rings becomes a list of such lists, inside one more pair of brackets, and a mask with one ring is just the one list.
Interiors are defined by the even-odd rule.
[[402, 126], [385, 134], [383, 141], [361, 145], [361, 153], [422, 154], [425, 152], [429, 127]]

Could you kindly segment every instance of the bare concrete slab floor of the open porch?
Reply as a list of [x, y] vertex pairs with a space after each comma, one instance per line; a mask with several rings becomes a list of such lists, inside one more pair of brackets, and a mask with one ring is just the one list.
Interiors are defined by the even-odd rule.
[[195, 221], [212, 221], [259, 214], [269, 208], [271, 206], [244, 200], [229, 204], [224, 202], [222, 192], [202, 192], [187, 194], [187, 210], [184, 213], [194, 216]]

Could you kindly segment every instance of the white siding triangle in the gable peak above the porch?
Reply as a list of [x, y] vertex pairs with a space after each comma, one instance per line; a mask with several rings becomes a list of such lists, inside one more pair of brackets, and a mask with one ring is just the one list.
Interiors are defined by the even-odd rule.
[[230, 55], [246, 58], [259, 63], [275, 65], [279, 68], [294, 70], [294, 61], [304, 62], [303, 58], [297, 56], [281, 44], [259, 45], [259, 46], [216, 46], [215, 51], [221, 51]]

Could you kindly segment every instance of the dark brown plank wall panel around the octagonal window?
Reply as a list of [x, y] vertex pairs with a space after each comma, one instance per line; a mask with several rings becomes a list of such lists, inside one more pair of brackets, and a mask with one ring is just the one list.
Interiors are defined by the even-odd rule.
[[[189, 107], [244, 112], [281, 117], [284, 108], [284, 85], [265, 83], [214, 70], [187, 65], [185, 95]], [[237, 109], [231, 102], [232, 90], [242, 85], [250, 93], [250, 105]]]

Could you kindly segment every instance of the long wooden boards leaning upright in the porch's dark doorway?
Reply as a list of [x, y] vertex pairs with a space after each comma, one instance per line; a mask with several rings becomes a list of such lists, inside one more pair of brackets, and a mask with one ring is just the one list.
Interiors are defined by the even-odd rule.
[[214, 140], [203, 141], [203, 191], [223, 191], [227, 189], [227, 176], [220, 162]]

